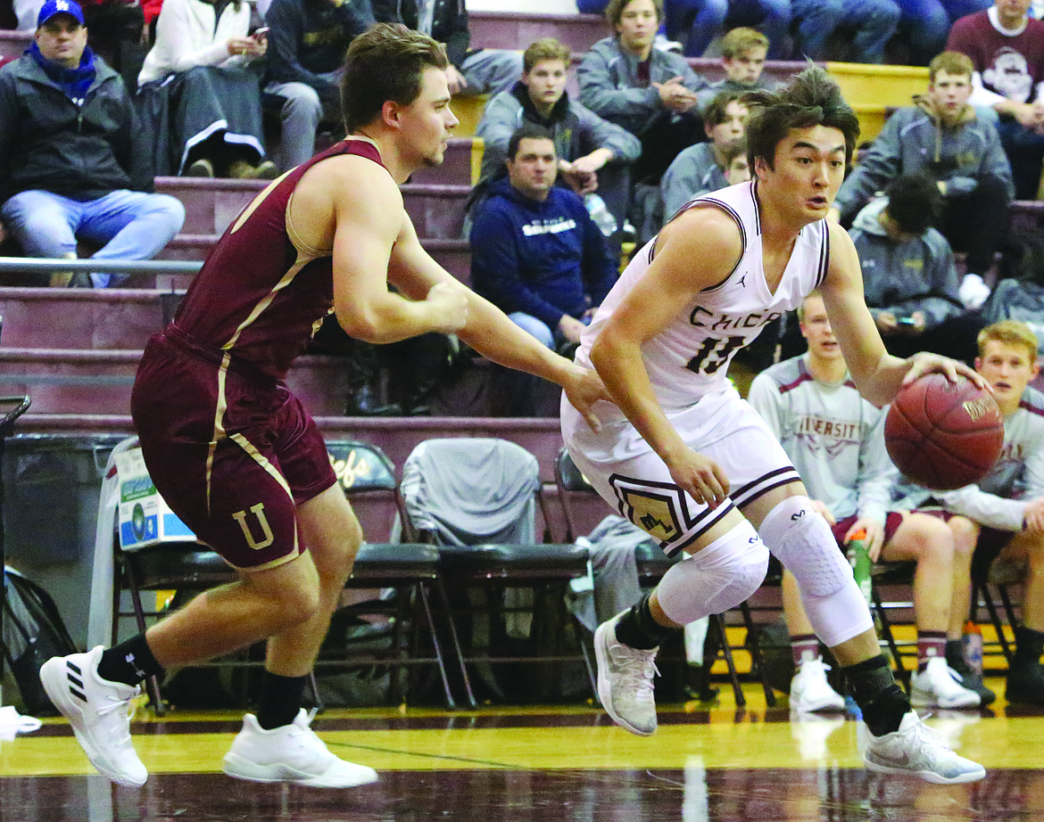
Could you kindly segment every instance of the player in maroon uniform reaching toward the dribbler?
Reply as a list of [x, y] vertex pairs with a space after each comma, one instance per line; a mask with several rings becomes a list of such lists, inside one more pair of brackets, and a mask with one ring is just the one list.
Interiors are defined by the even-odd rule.
[[[377, 779], [334, 756], [301, 707], [304, 685], [362, 540], [314, 421], [283, 382], [334, 312], [384, 343], [455, 333], [499, 362], [560, 384], [584, 409], [607, 398], [593, 371], [551, 353], [446, 273], [421, 247], [398, 184], [443, 161], [457, 120], [444, 47], [378, 25], [349, 50], [349, 137], [285, 173], [229, 226], [173, 322], [146, 346], [132, 412], [160, 493], [239, 572], [110, 650], [55, 657], [51, 699], [92, 764], [139, 785], [147, 771], [126, 703], [147, 676], [267, 639], [257, 715], [227, 774], [346, 788]], [[389, 291], [388, 285], [396, 291]]]

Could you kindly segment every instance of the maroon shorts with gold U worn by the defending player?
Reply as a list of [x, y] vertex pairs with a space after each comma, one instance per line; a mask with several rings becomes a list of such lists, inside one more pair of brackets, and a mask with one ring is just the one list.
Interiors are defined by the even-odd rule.
[[286, 385], [165, 333], [145, 347], [130, 411], [157, 490], [229, 564], [260, 571], [304, 551], [296, 506], [336, 478]]

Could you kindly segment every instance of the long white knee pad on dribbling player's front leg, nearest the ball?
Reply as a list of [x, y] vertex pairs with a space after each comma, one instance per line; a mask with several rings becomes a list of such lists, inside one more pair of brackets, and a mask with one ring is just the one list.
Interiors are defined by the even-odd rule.
[[828, 648], [873, 626], [852, 566], [811, 500], [789, 497], [773, 508], [761, 524], [761, 538], [793, 574], [808, 621]]

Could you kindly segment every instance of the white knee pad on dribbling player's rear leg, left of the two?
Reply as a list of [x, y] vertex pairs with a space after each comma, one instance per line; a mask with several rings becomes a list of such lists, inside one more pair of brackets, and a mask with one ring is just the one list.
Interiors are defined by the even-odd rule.
[[657, 586], [663, 612], [674, 623], [720, 613], [758, 589], [768, 570], [768, 551], [746, 521], [688, 559], [677, 562]]

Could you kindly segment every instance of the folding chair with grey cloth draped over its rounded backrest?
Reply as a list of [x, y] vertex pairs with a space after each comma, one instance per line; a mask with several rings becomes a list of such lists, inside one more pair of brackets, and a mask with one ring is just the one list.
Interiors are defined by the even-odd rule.
[[[469, 666], [490, 675], [495, 663], [541, 663], [561, 674], [564, 663], [583, 660], [594, 694], [593, 668], [565, 605], [569, 582], [588, 575], [588, 552], [537, 541], [538, 503], [547, 522], [537, 459], [502, 439], [429, 439], [403, 463], [401, 492], [416, 538], [438, 546], [447, 628], [469, 703], [476, 704]], [[531, 591], [531, 604], [520, 588]], [[578, 653], [566, 647], [569, 632]], [[495, 679], [488, 684], [500, 690]]]

